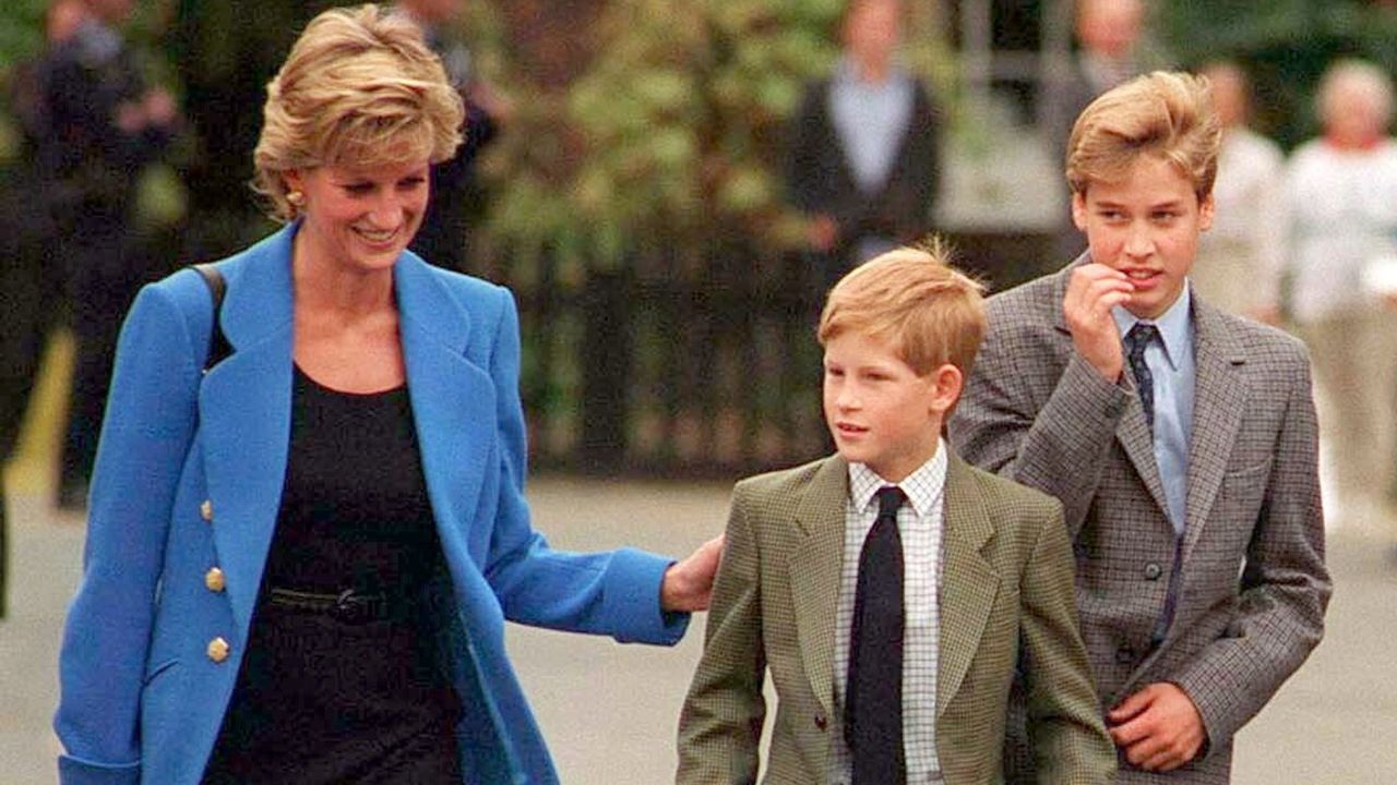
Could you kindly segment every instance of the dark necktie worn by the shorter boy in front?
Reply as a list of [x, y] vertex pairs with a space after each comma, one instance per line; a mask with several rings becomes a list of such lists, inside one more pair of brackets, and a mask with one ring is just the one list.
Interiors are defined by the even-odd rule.
[[854, 785], [901, 785], [902, 753], [902, 536], [900, 487], [877, 492], [877, 520], [859, 553], [844, 740], [854, 758]]

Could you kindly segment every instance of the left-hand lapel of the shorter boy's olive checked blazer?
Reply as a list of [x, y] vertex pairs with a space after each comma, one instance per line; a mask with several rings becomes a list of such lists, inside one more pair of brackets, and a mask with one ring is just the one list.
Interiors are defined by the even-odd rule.
[[796, 507], [802, 539], [788, 564], [800, 659], [827, 715], [834, 712], [834, 630], [848, 494], [848, 464], [840, 457], [826, 460]]

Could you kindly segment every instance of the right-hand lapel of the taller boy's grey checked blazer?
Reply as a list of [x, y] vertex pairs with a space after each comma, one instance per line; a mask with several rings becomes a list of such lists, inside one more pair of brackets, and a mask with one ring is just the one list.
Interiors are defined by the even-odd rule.
[[1245, 352], [1222, 324], [1220, 311], [1194, 298], [1193, 314], [1197, 338], [1193, 423], [1189, 429], [1185, 557], [1197, 542], [1217, 499], [1246, 408], [1242, 374]]

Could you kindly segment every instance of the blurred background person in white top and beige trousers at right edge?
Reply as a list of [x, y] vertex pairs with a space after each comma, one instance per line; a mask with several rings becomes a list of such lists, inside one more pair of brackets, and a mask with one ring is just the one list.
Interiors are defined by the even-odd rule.
[[1341, 521], [1384, 517], [1393, 482], [1393, 316], [1363, 282], [1365, 267], [1397, 256], [1397, 142], [1387, 135], [1393, 85], [1359, 60], [1320, 80], [1320, 138], [1291, 155], [1291, 318], [1315, 359], [1326, 451], [1326, 499]]

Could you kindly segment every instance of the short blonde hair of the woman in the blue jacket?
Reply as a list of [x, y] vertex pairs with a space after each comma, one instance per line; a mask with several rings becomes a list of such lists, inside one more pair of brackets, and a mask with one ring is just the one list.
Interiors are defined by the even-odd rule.
[[408, 18], [377, 6], [312, 20], [267, 84], [253, 190], [295, 219], [284, 175], [353, 162], [386, 166], [451, 158], [465, 109], [441, 60]]

